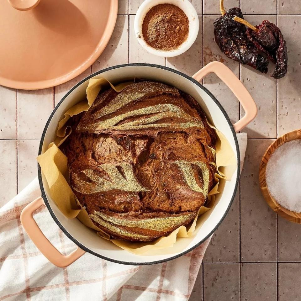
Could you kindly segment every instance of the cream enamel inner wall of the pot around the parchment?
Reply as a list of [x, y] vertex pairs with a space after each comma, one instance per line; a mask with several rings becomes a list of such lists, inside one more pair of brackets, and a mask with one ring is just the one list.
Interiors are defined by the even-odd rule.
[[[229, 125], [230, 121], [228, 116], [224, 113], [224, 110], [219, 107], [220, 105], [215, 103], [213, 96], [210, 96], [210, 93], [193, 82], [190, 77], [183, 76], [178, 72], [168, 69], [147, 65], [117, 66], [103, 72], [101, 71], [101, 73], [98, 73], [92, 78], [101, 77], [106, 78], [112, 83], [123, 82], [134, 77], [149, 79], [177, 87], [187, 94], [190, 94], [198, 101], [209, 121], [225, 135], [230, 142], [235, 156], [238, 157], [239, 154], [235, 143], [237, 141], [236, 137], [234, 138], [233, 127]], [[48, 127], [46, 125], [46, 131], [42, 136], [42, 153], [45, 152], [48, 145], [54, 141], [57, 124], [63, 118], [66, 110], [86, 97], [87, 86], [88, 80], [84, 80], [59, 103], [56, 111], [51, 115]], [[156, 261], [166, 261], [174, 256], [179, 256], [204, 241], [213, 233], [229, 210], [234, 198], [238, 182], [238, 170], [236, 166], [232, 179], [225, 183], [222, 193], [217, 195], [214, 208], [199, 217], [198, 227], [192, 237], [178, 238], [174, 247], [166, 249], [163, 255], [147, 256], [135, 255], [124, 251], [110, 241], [99, 238], [94, 230], [84, 226], [78, 219], [66, 218], [51, 199], [50, 190], [43, 174], [41, 177], [47, 198], [45, 202], [47, 203], [48, 201], [50, 210], [53, 211], [57, 219], [56, 222], [61, 224], [61, 228], [63, 228], [71, 240], [77, 242], [77, 244], [79, 243], [79, 246], [85, 251], [89, 251], [97, 256], [106, 257], [108, 260], [122, 261], [126, 264], [147, 264]]]

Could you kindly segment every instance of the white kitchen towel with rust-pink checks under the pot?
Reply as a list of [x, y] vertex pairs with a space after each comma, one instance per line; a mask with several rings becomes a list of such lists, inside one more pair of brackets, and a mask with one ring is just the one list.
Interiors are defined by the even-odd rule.
[[[237, 137], [243, 162], [247, 137]], [[0, 209], [0, 301], [188, 300], [210, 238], [182, 257], [150, 266], [122, 265], [85, 253], [59, 268], [40, 253], [20, 222], [22, 209], [39, 196], [36, 178]], [[45, 206], [34, 218], [63, 254], [75, 249]]]

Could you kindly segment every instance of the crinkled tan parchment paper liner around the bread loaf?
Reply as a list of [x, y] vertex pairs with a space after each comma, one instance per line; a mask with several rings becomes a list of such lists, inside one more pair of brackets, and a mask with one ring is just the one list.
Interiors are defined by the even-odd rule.
[[[236, 159], [225, 136], [214, 126], [209, 124], [216, 130], [216, 134], [218, 136], [215, 156], [219, 173], [215, 173], [216, 185], [208, 194], [209, 200], [206, 204], [206, 207], [202, 206], [199, 209], [196, 218], [189, 226], [180, 226], [171, 234], [162, 236], [152, 242], [129, 242], [124, 240], [110, 239], [110, 235], [93, 224], [85, 209], [79, 209], [79, 203], [77, 202], [77, 199], [68, 182], [67, 157], [61, 152], [58, 146], [61, 145], [71, 134], [71, 127], [66, 126], [66, 122], [72, 116], [83, 111], [87, 111], [102, 89], [111, 86], [114, 90], [120, 92], [131, 83], [133, 83], [133, 81], [124, 82], [113, 86], [104, 78], [90, 79], [87, 87], [87, 99], [77, 103], [66, 111], [65, 117], [58, 124], [56, 133], [57, 137], [55, 138], [55, 141], [50, 143], [48, 150], [46, 150], [44, 154], [38, 156], [37, 160], [50, 188], [50, 195], [52, 199], [67, 218], [73, 219], [77, 217], [84, 225], [96, 230], [100, 237], [112, 241], [116, 246], [119, 246], [120, 248], [131, 253], [139, 255], [166, 254], [171, 251], [171, 247], [174, 245], [177, 239], [189, 237], [193, 235], [193, 232], [196, 228], [198, 230], [201, 228], [202, 219], [198, 219], [198, 217], [214, 206], [215, 195], [220, 193], [218, 187], [222, 186], [221, 184], [223, 181], [232, 177], [235, 170]], [[227, 168], [224, 168], [225, 166], [227, 166]], [[183, 244], [182, 248], [184, 248]], [[172, 251], [175, 252], [174, 248], [172, 248]]]

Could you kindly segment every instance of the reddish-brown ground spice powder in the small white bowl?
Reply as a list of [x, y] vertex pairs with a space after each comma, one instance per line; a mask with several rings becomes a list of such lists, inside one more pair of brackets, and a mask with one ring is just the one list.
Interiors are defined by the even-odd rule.
[[159, 50], [175, 50], [188, 37], [189, 21], [181, 8], [159, 4], [151, 8], [142, 23], [145, 42]]

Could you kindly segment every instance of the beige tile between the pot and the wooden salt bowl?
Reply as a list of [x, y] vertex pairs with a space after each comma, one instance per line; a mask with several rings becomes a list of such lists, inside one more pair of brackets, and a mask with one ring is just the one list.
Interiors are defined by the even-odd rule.
[[277, 261], [277, 215], [259, 188], [259, 164], [272, 139], [249, 139], [240, 177], [240, 260]]

